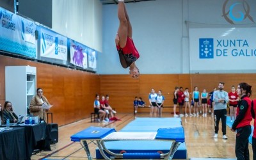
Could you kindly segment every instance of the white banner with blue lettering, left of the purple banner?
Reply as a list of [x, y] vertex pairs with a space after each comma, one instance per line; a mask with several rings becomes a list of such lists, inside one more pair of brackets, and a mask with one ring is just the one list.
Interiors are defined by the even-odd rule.
[[67, 61], [67, 37], [41, 26], [40, 56]]

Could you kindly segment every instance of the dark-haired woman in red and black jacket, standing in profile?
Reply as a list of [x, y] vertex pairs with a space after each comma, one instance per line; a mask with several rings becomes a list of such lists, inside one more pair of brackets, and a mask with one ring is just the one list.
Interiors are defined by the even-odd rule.
[[248, 138], [252, 133], [251, 88], [252, 86], [247, 83], [239, 83], [236, 90], [241, 100], [238, 102], [236, 120], [230, 130], [236, 132], [236, 157], [238, 160], [250, 159]]

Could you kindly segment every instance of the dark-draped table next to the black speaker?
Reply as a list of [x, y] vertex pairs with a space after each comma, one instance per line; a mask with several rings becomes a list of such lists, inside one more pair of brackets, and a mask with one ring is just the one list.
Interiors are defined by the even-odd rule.
[[26, 159], [30, 159], [32, 152], [35, 149], [51, 150], [50, 131], [45, 122], [36, 125], [11, 125], [10, 127], [13, 129], [20, 127], [24, 129], [24, 136], [22, 137], [22, 141], [26, 147]]

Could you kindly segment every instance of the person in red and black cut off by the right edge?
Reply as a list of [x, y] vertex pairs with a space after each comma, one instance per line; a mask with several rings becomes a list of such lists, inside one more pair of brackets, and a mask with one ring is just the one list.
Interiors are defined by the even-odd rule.
[[252, 152], [253, 152], [253, 160], [256, 160], [256, 120], [255, 120], [256, 99], [252, 100], [251, 113], [252, 113], [252, 118], [254, 119], [254, 123], [253, 123], [254, 129], [253, 129], [253, 135], [252, 135]]

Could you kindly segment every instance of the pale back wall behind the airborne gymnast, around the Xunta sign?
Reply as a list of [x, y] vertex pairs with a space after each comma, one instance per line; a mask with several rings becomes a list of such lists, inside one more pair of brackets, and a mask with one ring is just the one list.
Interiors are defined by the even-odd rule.
[[[230, 0], [229, 3], [236, 1], [242, 2]], [[246, 1], [250, 4], [250, 15], [256, 22], [256, 1]], [[248, 18], [237, 25], [229, 24], [222, 16], [223, 3], [223, 0], [156, 0], [127, 3], [134, 33], [132, 38], [141, 55], [136, 61], [141, 74], [189, 73], [188, 29], [193, 25], [196, 28], [239, 28], [243, 27], [241, 24], [252, 24]], [[121, 67], [115, 49], [117, 5], [104, 5], [102, 13], [103, 49], [98, 61], [99, 74], [127, 74], [129, 69]]]

